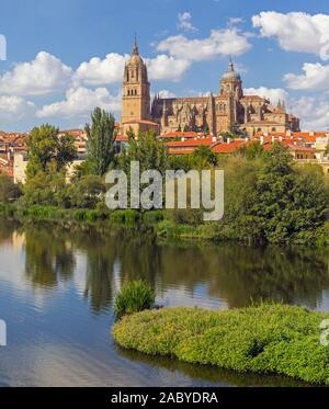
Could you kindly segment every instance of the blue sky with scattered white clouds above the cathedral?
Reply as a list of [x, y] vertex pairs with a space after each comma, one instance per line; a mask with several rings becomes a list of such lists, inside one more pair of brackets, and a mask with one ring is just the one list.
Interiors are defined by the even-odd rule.
[[0, 129], [120, 120], [135, 33], [152, 94], [217, 93], [232, 58], [245, 93], [329, 129], [328, 0], [1, 0]]

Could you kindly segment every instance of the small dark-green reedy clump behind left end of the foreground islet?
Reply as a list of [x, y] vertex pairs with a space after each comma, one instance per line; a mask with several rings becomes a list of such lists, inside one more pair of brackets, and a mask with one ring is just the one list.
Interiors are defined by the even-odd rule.
[[114, 300], [117, 317], [149, 309], [155, 303], [155, 293], [148, 283], [132, 281], [125, 285]]

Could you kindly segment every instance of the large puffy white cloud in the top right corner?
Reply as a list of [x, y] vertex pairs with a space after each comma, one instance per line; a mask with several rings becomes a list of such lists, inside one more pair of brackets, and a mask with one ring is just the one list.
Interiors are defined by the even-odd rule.
[[[303, 12], [277, 13], [262, 11], [252, 16], [252, 24], [263, 37], [276, 37], [281, 48], [288, 52], [322, 55], [329, 43], [329, 15]], [[326, 58], [325, 58], [326, 59]]]

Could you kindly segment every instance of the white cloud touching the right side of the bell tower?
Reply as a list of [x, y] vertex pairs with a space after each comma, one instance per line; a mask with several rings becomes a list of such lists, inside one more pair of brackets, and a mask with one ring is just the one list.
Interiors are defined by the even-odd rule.
[[145, 58], [150, 80], [179, 81], [190, 67], [186, 59], [179, 59], [166, 54], [155, 58]]

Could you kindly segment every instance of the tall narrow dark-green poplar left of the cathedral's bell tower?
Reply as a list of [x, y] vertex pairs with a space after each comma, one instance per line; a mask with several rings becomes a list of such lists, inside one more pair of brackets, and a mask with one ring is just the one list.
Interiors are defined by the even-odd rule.
[[91, 126], [86, 125], [88, 136], [88, 163], [90, 172], [98, 175], [106, 173], [114, 158], [115, 120], [100, 107], [91, 114]]

